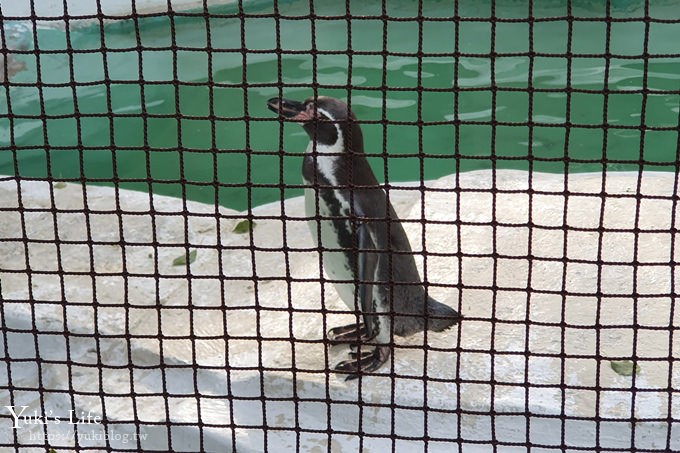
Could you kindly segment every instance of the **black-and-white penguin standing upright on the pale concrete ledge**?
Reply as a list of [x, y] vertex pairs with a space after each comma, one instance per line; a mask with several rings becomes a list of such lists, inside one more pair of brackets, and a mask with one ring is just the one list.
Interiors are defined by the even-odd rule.
[[[390, 357], [393, 335], [440, 332], [461, 318], [430, 297], [397, 214], [364, 154], [361, 127], [347, 105], [315, 96], [272, 98], [268, 108], [309, 135], [302, 178], [305, 213], [325, 273], [357, 323], [328, 331], [330, 345], [350, 344], [334, 370], [354, 379]], [[360, 320], [360, 321], [359, 321]]]

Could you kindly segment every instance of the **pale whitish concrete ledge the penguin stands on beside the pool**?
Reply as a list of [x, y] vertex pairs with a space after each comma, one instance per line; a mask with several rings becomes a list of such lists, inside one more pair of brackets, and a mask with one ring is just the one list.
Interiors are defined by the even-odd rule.
[[[426, 278], [440, 285], [432, 293], [452, 306], [460, 303], [466, 319], [426, 339], [398, 338], [393, 366], [402, 377], [367, 377], [358, 386], [325, 372], [347, 349], [327, 352], [320, 341], [324, 330], [353, 317], [334, 313], [345, 310], [335, 290], [325, 285], [322, 298], [321, 284], [313, 282], [320, 276], [319, 257], [300, 198], [254, 210], [275, 219], [256, 220], [251, 250], [249, 235], [232, 232], [238, 222], [233, 216], [242, 214], [228, 209], [187, 202], [183, 214], [181, 200], [154, 196], [151, 216], [144, 193], [73, 184], [50, 192], [48, 183], [5, 181], [0, 208], [16, 211], [0, 218], [3, 341], [10, 386], [24, 389], [11, 403], [55, 415], [91, 411], [121, 436], [134, 432], [134, 403], [140, 430], [148, 435], [142, 450], [164, 448], [167, 434], [153, 422], [166, 418], [186, 423], [173, 431], [175, 451], [198, 449], [199, 421], [237, 425], [239, 452], [264, 446], [263, 432], [248, 425], [266, 423], [273, 429], [267, 444], [281, 451], [295, 446], [299, 426], [304, 450], [325, 450], [332, 442], [333, 451], [350, 452], [357, 451], [356, 435], [329, 440], [318, 431], [389, 435], [392, 420], [400, 436], [443, 439], [430, 442], [429, 451], [451, 451], [458, 436], [480, 442], [467, 443], [465, 451], [488, 451], [484, 441], [492, 435], [502, 443], [525, 443], [527, 432], [530, 442], [558, 451], [561, 426], [574, 447], [599, 442], [602, 448], [630, 448], [635, 430], [637, 448], [663, 448], [671, 428], [666, 419], [680, 417], [669, 401], [680, 389], [671, 368], [671, 359], [680, 357], [680, 323], [669, 297], [677, 292], [671, 263], [679, 255], [674, 186], [671, 173], [610, 173], [603, 182], [600, 174], [565, 179], [535, 173], [529, 180], [526, 172], [497, 171], [493, 177], [478, 171], [428, 183], [439, 191], [425, 192], [424, 207], [412, 186], [392, 189], [400, 216], [413, 221], [406, 229], [414, 250], [428, 252]], [[288, 220], [277, 219], [282, 215]], [[189, 274], [172, 265], [187, 238], [198, 250]], [[91, 247], [79, 243], [87, 240]], [[153, 241], [158, 247], [148, 245]], [[284, 243], [295, 251], [277, 251]], [[604, 263], [599, 268], [598, 259]], [[422, 269], [422, 259], [420, 264]], [[247, 280], [253, 269], [255, 283]], [[452, 289], [459, 282], [462, 294]], [[322, 306], [331, 311], [325, 318]], [[33, 318], [35, 335], [28, 333]], [[633, 356], [640, 367], [634, 380], [611, 369], [612, 360]], [[292, 367], [306, 371], [293, 373]], [[7, 382], [6, 370], [0, 373]], [[42, 406], [40, 393], [31, 390], [39, 385], [45, 389]], [[73, 400], [50, 393], [69, 387]], [[153, 396], [164, 389], [171, 395], [167, 407]], [[264, 403], [257, 399], [262, 394]], [[0, 393], [0, 407], [9, 404], [9, 395]], [[563, 424], [561, 414], [569, 417]], [[606, 419], [599, 440], [596, 417]], [[640, 422], [631, 425], [633, 417]], [[0, 419], [2, 443], [12, 441], [9, 422]], [[54, 439], [71, 429], [51, 428]], [[16, 434], [28, 441], [41, 429], [27, 425]], [[206, 432], [206, 450], [231, 446], [228, 429]], [[366, 438], [363, 447], [384, 451], [385, 442]], [[396, 446], [416, 451], [424, 443], [397, 440]], [[671, 448], [680, 449], [677, 426]]]

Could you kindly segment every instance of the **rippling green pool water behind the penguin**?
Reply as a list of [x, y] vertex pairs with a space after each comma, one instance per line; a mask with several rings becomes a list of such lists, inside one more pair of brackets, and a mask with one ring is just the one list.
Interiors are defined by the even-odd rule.
[[[29, 38], [39, 51], [17, 55], [26, 70], [0, 90], [0, 174], [116, 184], [236, 209], [299, 195], [295, 153], [307, 138], [279, 123], [265, 101], [277, 86], [301, 100], [312, 83], [320, 95], [349, 99], [369, 122], [366, 149], [381, 180], [492, 166], [676, 168], [680, 23], [649, 23], [645, 61], [642, 1], [610, 2], [614, 18], [638, 20], [611, 22], [608, 61], [605, 2], [571, 2], [579, 19], [570, 63], [560, 56], [569, 41], [564, 0], [534, 2], [535, 18], [555, 19], [532, 27], [527, 2], [497, 1], [503, 20], [493, 29], [488, 0], [461, 1], [457, 10], [426, 1], [432, 20], [421, 22], [417, 2], [388, 2], [398, 20], [384, 22], [362, 18], [379, 16], [378, 2], [352, 1], [350, 22], [337, 17], [344, 2], [316, 1], [313, 30], [295, 19], [310, 14], [309, 3], [279, 2], [278, 13], [290, 16], [280, 20], [270, 2], [255, 1], [245, 3], [245, 19], [222, 6], [68, 32], [38, 28]], [[476, 20], [437, 20], [456, 12]], [[680, 2], [653, 2], [649, 14], [677, 20]], [[279, 152], [281, 137], [293, 154]]]

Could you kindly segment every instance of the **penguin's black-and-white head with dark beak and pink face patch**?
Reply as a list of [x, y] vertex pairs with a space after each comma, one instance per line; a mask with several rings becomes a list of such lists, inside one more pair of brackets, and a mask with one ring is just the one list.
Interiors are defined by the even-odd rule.
[[347, 104], [339, 99], [317, 96], [304, 102], [282, 98], [267, 101], [269, 110], [299, 123], [317, 145], [343, 148], [351, 137], [348, 148], [363, 152], [361, 129]]

